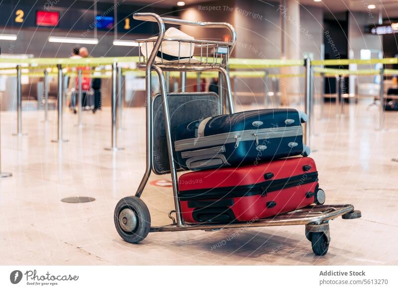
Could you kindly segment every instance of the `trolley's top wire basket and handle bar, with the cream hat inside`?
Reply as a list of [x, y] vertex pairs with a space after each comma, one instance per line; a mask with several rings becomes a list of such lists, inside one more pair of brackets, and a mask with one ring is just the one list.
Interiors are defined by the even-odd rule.
[[[168, 17], [153, 13], [135, 13], [134, 19], [154, 21], [159, 25], [158, 37], [138, 39], [138, 67], [147, 65], [189, 66], [189, 67], [225, 67], [236, 43], [236, 32], [232, 25], [225, 22], [197, 22]], [[195, 39], [181, 30], [165, 24], [190, 25], [205, 28], [224, 28], [229, 30], [230, 38], [226, 41]]]

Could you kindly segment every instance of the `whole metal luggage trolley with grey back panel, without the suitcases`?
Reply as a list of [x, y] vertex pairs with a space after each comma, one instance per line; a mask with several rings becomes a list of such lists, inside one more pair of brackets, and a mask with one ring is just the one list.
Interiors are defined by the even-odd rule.
[[[172, 131], [175, 129], [173, 123], [179, 123], [184, 118], [189, 118], [189, 122], [195, 119], [193, 115], [197, 112], [199, 112], [199, 115], [205, 112], [209, 114], [207, 116], [222, 114], [224, 108], [227, 108], [229, 113], [234, 112], [231, 84], [227, 69], [229, 56], [236, 43], [236, 32], [232, 25], [225, 22], [187, 21], [161, 17], [155, 13], [135, 13], [133, 17], [137, 20], [157, 22], [159, 25], [159, 36], [157, 38], [137, 40], [140, 48], [146, 52], [141, 55], [140, 49], [140, 62], [137, 64], [138, 68], [145, 69], [146, 71], [146, 170], [135, 195], [122, 198], [115, 207], [114, 224], [119, 235], [127, 242], [138, 243], [149, 232], [215, 231], [226, 228], [305, 225], [305, 236], [311, 242], [313, 252], [316, 255], [326, 254], [330, 242], [329, 220], [338, 216], [342, 216], [343, 219], [361, 217], [361, 212], [354, 210], [353, 205], [322, 205], [324, 197], [320, 198], [318, 196], [317, 205], [307, 206], [289, 213], [252, 222], [202, 222], [193, 224], [183, 221], [179, 203], [177, 177], [177, 172], [182, 169], [179, 168], [173, 157], [174, 145]], [[229, 30], [231, 38], [228, 42], [165, 38], [166, 23], [204, 28], [224, 28]], [[165, 42], [174, 42], [175, 47], [178, 47], [179, 55], [173, 61], [165, 61], [163, 58], [162, 45]], [[188, 60], [185, 58], [183, 60], [180, 51], [182, 45], [187, 45], [187, 43], [190, 46], [190, 50], [192, 49], [190, 56], [193, 55], [195, 58], [189, 58]], [[153, 47], [152, 50], [151, 47]], [[155, 96], [152, 96], [151, 91], [152, 71], [155, 71], [158, 75], [160, 84], [160, 94]], [[221, 80], [225, 84], [225, 101], [222, 96], [223, 90], [220, 90], [219, 96], [214, 93], [176, 94], [167, 92], [164, 72], [170, 71], [182, 73], [188, 71], [218, 72], [219, 84], [221, 84]], [[200, 104], [197, 102], [194, 106], [195, 109], [190, 110], [189, 114], [187, 114], [187, 107], [184, 107], [184, 105], [194, 103], [195, 99], [199, 99]], [[214, 105], [214, 100], [217, 102], [216, 105]], [[202, 104], [206, 105], [203, 106]], [[181, 107], [183, 109], [179, 110]], [[159, 128], [159, 126], [163, 126], [163, 128]], [[162, 138], [159, 132], [163, 132], [165, 138]], [[175, 210], [169, 212], [169, 218], [172, 220], [172, 223], [169, 225], [151, 226], [151, 216], [148, 207], [140, 198], [152, 171], [155, 174], [171, 173]], [[174, 214], [175, 217], [173, 216]]]

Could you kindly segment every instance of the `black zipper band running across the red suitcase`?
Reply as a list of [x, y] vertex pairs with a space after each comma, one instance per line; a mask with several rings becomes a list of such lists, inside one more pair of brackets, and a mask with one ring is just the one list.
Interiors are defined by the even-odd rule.
[[268, 193], [279, 191], [285, 188], [292, 188], [303, 184], [318, 181], [318, 172], [311, 172], [291, 176], [288, 178], [265, 181], [258, 184], [224, 187], [214, 189], [201, 189], [191, 191], [180, 191], [180, 200], [200, 200], [200, 199], [220, 199], [228, 197], [242, 197], [251, 195], [267, 195]]

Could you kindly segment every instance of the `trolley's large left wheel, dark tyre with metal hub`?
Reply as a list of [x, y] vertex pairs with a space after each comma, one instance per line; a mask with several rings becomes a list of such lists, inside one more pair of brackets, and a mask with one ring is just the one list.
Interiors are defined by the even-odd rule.
[[138, 243], [145, 239], [151, 228], [148, 207], [136, 196], [120, 199], [116, 204], [113, 219], [118, 234], [129, 243]]

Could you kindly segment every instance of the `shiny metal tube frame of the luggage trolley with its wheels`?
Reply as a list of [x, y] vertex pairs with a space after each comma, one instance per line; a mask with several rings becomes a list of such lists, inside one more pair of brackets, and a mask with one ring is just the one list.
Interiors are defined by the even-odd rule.
[[[160, 17], [155, 13], [135, 13], [134, 19], [143, 21], [157, 22], [159, 26], [158, 38], [140, 39], [141, 48], [152, 42], [153, 49], [144, 56], [141, 56], [137, 67], [145, 69], [146, 71], [146, 169], [144, 176], [138, 186], [135, 196], [127, 196], [122, 198], [115, 208], [114, 223], [119, 235], [126, 241], [136, 243], [143, 240], [149, 232], [166, 232], [166, 231], [184, 231], [184, 230], [205, 230], [214, 231], [226, 228], [241, 228], [241, 227], [260, 227], [260, 226], [281, 226], [281, 225], [305, 225], [305, 235], [307, 239], [312, 242], [312, 249], [315, 254], [324, 255], [329, 246], [329, 224], [328, 221], [338, 216], [343, 216], [345, 219], [353, 219], [361, 216], [361, 212], [354, 210], [351, 204], [342, 205], [312, 205], [299, 210], [295, 210], [286, 214], [281, 214], [275, 217], [253, 220], [251, 222], [231, 222], [231, 223], [199, 223], [191, 224], [185, 223], [182, 218], [181, 208], [179, 203], [178, 191], [178, 177], [177, 167], [173, 158], [173, 143], [170, 125], [170, 112], [168, 106], [168, 97], [166, 89], [166, 81], [164, 72], [178, 71], [217, 71], [219, 73], [219, 80], [225, 84], [226, 100], [225, 107], [228, 108], [229, 113], [234, 112], [231, 83], [228, 76], [228, 59], [236, 43], [236, 32], [232, 25], [225, 22], [195, 22], [181, 19]], [[165, 23], [175, 25], [191, 25], [201, 26], [205, 28], [226, 28], [231, 34], [230, 42], [218, 42], [207, 40], [181, 40], [181, 39], [167, 39], [165, 36]], [[163, 57], [159, 60], [157, 54], [160, 52], [163, 56], [162, 43], [163, 41], [178, 41], [179, 48], [181, 43], [190, 43], [190, 47], [200, 49], [199, 63], [180, 62], [179, 56], [176, 62], [163, 61]], [[209, 47], [213, 48], [213, 52]], [[226, 53], [218, 55], [218, 48], [223, 47]], [[225, 51], [224, 49], [224, 51]], [[205, 53], [203, 54], [203, 51]], [[142, 59], [142, 61], [141, 61]], [[160, 93], [163, 100], [164, 123], [166, 129], [167, 149], [170, 162], [170, 173], [173, 184], [173, 196], [175, 210], [169, 212], [169, 218], [172, 223], [164, 226], [151, 226], [150, 214], [145, 203], [140, 199], [142, 192], [148, 182], [152, 172], [153, 163], [153, 116], [152, 116], [152, 92], [151, 92], [151, 73], [155, 71], [159, 77]], [[223, 90], [220, 89], [219, 105], [221, 112], [224, 109]], [[172, 216], [175, 213], [176, 218]], [[314, 248], [315, 246], [315, 248]]]

